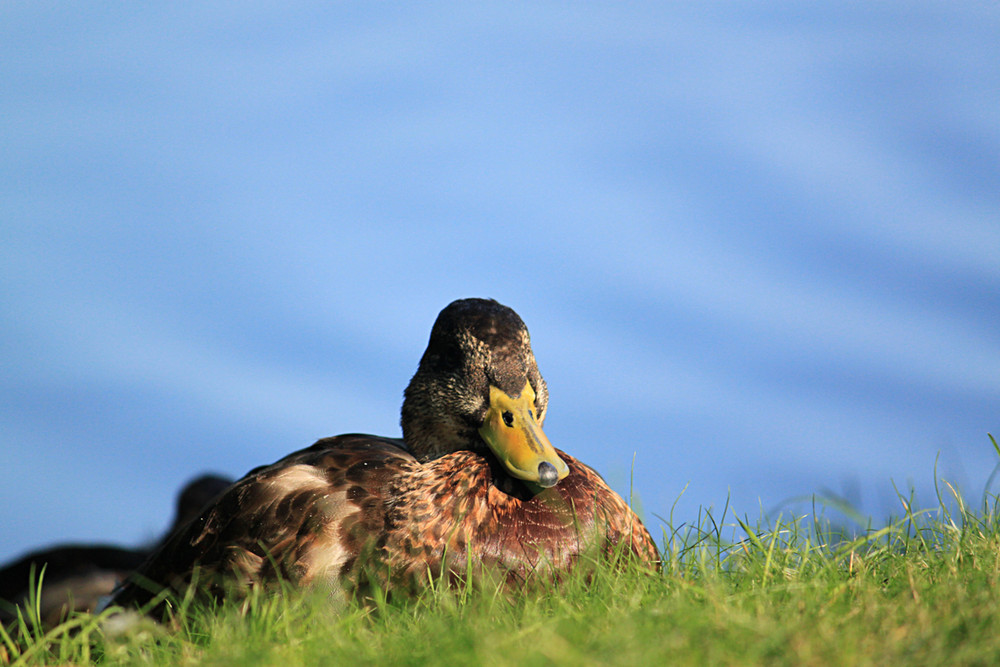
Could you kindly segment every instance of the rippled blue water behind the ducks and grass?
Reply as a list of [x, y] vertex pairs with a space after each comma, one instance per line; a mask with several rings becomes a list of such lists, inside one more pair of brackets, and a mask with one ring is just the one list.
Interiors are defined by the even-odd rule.
[[997, 35], [984, 2], [3, 3], [0, 560], [397, 435], [467, 296], [658, 536], [878, 522], [935, 465], [978, 504]]

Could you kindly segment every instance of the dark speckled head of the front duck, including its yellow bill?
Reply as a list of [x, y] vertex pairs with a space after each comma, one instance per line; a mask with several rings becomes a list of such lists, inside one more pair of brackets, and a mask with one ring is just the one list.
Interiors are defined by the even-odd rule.
[[540, 487], [569, 474], [542, 431], [549, 393], [517, 313], [492, 299], [441, 311], [403, 400], [403, 440], [418, 459], [470, 449]]

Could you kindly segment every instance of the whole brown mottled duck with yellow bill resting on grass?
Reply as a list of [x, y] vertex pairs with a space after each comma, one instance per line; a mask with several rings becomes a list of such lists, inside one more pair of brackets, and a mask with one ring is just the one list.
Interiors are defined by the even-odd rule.
[[566, 571], [585, 552], [655, 566], [656, 545], [628, 504], [545, 436], [548, 398], [517, 313], [455, 301], [404, 392], [402, 439], [324, 438], [250, 471], [112, 604], [142, 606], [193, 581], [217, 596], [277, 579], [350, 592], [375, 573], [395, 588], [463, 576], [470, 563], [520, 582]]

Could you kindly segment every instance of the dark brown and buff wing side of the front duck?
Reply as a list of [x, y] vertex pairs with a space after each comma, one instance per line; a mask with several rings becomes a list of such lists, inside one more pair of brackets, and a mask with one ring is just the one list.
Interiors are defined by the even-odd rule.
[[397, 440], [344, 435], [255, 468], [175, 532], [113, 602], [142, 606], [164, 587], [183, 594], [195, 576], [218, 596], [233, 584], [336, 579], [357, 555], [358, 533], [384, 523], [388, 480], [414, 465]]

